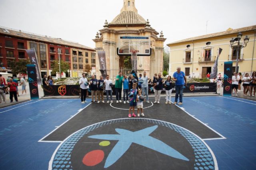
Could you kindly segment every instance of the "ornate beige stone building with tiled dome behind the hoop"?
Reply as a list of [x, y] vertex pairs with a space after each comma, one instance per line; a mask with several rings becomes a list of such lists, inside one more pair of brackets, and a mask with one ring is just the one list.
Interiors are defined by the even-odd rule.
[[96, 43], [97, 78], [101, 75], [97, 51], [105, 51], [106, 69], [111, 78], [122, 71], [125, 56], [117, 55], [120, 36], [149, 36], [152, 52], [150, 56], [138, 56], [138, 73], [147, 71], [147, 75], [150, 77], [153, 77], [154, 73], [162, 73], [164, 41], [166, 39], [162, 32], [158, 37], [159, 33], [138, 14], [135, 0], [124, 0], [120, 14], [112, 22], [106, 21], [103, 27], [93, 40]]

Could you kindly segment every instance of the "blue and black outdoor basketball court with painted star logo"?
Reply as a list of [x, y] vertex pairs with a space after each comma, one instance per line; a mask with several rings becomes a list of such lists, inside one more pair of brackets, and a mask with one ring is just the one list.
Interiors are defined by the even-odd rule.
[[128, 118], [128, 104], [87, 101], [0, 109], [0, 169], [256, 168], [256, 101], [184, 97], [178, 107], [161, 99], [144, 103], [140, 118]]

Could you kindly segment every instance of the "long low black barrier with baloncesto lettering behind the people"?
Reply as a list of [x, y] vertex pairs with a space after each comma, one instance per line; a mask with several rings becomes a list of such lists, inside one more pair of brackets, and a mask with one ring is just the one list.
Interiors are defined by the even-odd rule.
[[[172, 83], [172, 93], [176, 93], [175, 84]], [[45, 96], [79, 96], [80, 86], [79, 85], [43, 85]], [[216, 83], [188, 83], [183, 93], [216, 93], [217, 84]], [[123, 92], [122, 92], [123, 93]], [[165, 94], [165, 88], [162, 89], [163, 94]], [[112, 87], [112, 95], [115, 95], [115, 87]], [[154, 94], [154, 88], [152, 84], [148, 84], [148, 94]], [[90, 90], [88, 90], [88, 95], [91, 95]], [[104, 89], [104, 95], [106, 91]]]

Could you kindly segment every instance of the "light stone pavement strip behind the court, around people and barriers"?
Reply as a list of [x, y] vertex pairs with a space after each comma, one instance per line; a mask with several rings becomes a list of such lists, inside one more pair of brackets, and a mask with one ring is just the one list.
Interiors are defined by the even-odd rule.
[[[30, 101], [30, 93], [29, 93], [29, 87], [28, 87], [28, 82], [26, 86], [27, 93], [21, 95], [21, 86], [18, 87], [18, 92], [20, 94], [20, 97], [18, 97], [18, 102], [14, 100], [14, 102], [10, 103], [9, 95], [6, 95], [6, 103], [2, 102], [0, 104], [0, 108], [8, 107], [11, 105], [16, 105], [18, 103], [23, 103], [26, 101]], [[79, 99], [79, 96], [48, 96], [44, 97], [44, 92], [41, 86], [38, 87], [38, 92], [39, 92], [39, 97], [40, 99]], [[185, 93], [183, 97], [192, 97], [192, 96], [222, 96], [223, 95], [223, 87], [220, 88], [220, 90], [217, 90], [217, 93]], [[234, 95], [234, 94], [232, 94]], [[175, 94], [172, 94], [172, 97], [174, 97]], [[149, 95], [149, 97], [154, 97], [154, 95]], [[165, 97], [165, 94], [162, 94], [161, 97]], [[90, 98], [90, 96], [89, 96]], [[113, 99], [115, 99], [115, 95], [113, 95]], [[241, 91], [238, 92], [238, 98], [244, 98], [248, 100], [254, 100], [256, 101], [256, 97], [252, 96], [244, 96], [243, 93], [243, 87], [241, 86]], [[104, 97], [106, 99], [106, 96]]]

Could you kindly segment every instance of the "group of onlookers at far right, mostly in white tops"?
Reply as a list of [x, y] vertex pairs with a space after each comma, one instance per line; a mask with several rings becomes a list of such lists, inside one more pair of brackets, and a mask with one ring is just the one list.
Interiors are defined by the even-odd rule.
[[[241, 90], [241, 84], [243, 83], [244, 87], [244, 96], [247, 96], [248, 91], [250, 91], [250, 96], [255, 96], [256, 91], [256, 72], [252, 72], [252, 76], [249, 76], [249, 73], [246, 73], [244, 78], [242, 78], [242, 73], [234, 72], [232, 75], [232, 90], [234, 96], [237, 96], [237, 92]], [[253, 93], [252, 93], [253, 92]]]

